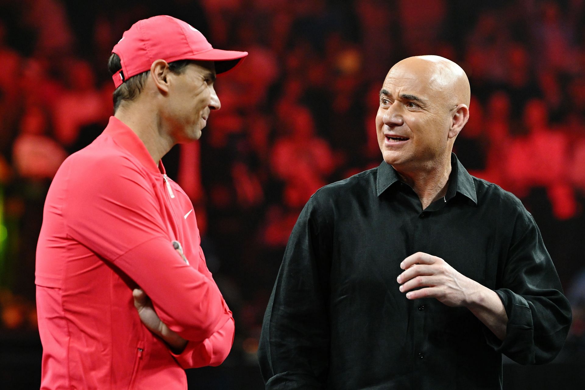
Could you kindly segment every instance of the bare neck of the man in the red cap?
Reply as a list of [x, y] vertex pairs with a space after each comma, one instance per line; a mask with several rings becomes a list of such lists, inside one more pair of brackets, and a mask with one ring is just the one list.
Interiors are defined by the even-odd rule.
[[128, 126], [146, 146], [150, 156], [159, 165], [160, 159], [168, 153], [174, 145], [173, 139], [161, 124], [160, 117], [154, 107], [138, 107], [132, 105], [118, 107], [114, 117]]

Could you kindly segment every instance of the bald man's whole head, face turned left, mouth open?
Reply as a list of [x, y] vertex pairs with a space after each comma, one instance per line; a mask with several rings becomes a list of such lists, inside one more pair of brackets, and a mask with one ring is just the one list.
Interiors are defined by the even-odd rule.
[[470, 88], [459, 65], [439, 56], [395, 64], [376, 115], [384, 161], [399, 172], [450, 166], [453, 142], [469, 119]]

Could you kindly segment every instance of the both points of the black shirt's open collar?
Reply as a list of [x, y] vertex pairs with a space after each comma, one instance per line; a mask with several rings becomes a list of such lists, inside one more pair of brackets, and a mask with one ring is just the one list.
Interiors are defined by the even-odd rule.
[[[398, 182], [401, 182], [398, 172], [396, 172], [393, 166], [383, 161], [380, 166], [378, 166], [378, 175], [376, 179], [377, 195], [380, 196], [381, 193], [388, 189], [388, 187]], [[477, 193], [475, 184], [473, 183], [473, 177], [469, 175], [469, 172], [467, 172], [462, 163], [459, 162], [455, 153], [451, 153], [451, 175], [449, 177], [449, 187], [445, 199], [451, 199], [457, 192], [468, 197], [473, 203], [477, 204]]]

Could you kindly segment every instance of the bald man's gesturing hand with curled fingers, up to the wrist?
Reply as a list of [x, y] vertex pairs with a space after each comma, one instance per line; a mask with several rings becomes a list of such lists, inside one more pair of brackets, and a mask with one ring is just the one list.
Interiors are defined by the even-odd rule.
[[410, 291], [408, 299], [433, 297], [447, 306], [470, 306], [474, 303], [479, 283], [457, 272], [445, 260], [423, 252], [410, 255], [401, 262], [405, 271], [396, 279], [401, 283], [400, 291]]

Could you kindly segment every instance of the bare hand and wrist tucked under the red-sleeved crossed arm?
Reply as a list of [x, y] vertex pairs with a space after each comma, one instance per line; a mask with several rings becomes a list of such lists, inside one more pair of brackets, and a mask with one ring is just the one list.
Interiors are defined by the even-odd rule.
[[159, 315], [154, 311], [152, 301], [142, 289], [132, 291], [134, 297], [134, 307], [138, 310], [140, 321], [150, 330], [162, 338], [171, 347], [171, 351], [180, 354], [185, 350], [187, 340], [179, 336], [174, 331], [168, 329], [165, 323], [160, 320]]

